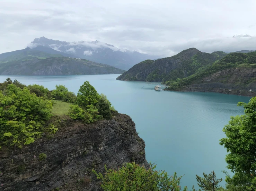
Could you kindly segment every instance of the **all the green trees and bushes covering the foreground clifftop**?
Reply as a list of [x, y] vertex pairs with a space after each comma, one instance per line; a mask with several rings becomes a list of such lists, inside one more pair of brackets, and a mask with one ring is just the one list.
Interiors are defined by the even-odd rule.
[[[49, 121], [56, 113], [69, 114], [72, 119], [91, 123], [111, 119], [112, 113], [117, 112], [106, 96], [99, 95], [88, 81], [81, 86], [78, 96], [63, 85], [55, 87], [52, 91], [37, 84], [26, 87], [10, 78], [0, 83], [0, 148], [22, 148], [43, 133], [54, 134], [58, 128]], [[54, 100], [69, 102], [62, 104], [66, 113], [60, 108], [53, 111], [57, 104]], [[60, 102], [57, 105], [61, 107]]]

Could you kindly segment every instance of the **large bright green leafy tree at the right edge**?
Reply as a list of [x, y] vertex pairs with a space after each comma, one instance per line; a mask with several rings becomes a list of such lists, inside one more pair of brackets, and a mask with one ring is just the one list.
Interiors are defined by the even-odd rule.
[[243, 190], [255, 190], [256, 97], [251, 98], [248, 104], [239, 102], [237, 105], [244, 106], [245, 114], [231, 116], [229, 124], [223, 129], [226, 138], [220, 139], [220, 144], [228, 151], [227, 168], [234, 173], [233, 177], [226, 176], [226, 182]]

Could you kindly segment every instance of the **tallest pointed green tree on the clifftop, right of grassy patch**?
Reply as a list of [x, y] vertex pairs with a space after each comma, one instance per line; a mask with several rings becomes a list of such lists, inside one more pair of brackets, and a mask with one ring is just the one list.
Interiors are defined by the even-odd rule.
[[91, 104], [96, 106], [99, 98], [100, 96], [95, 88], [88, 81], [85, 81], [77, 93], [76, 102], [80, 107], [86, 108], [87, 105]]

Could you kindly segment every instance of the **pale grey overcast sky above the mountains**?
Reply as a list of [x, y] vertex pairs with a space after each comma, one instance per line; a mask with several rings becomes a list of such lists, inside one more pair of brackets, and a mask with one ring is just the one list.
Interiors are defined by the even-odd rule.
[[[102, 41], [172, 56], [256, 50], [255, 0], [0, 0], [0, 53], [35, 38]], [[228, 38], [236, 34], [252, 37]]]

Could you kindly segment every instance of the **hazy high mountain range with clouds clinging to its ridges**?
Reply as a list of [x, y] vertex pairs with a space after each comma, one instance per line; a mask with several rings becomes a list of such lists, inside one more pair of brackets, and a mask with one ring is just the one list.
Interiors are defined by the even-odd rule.
[[32, 41], [29, 46], [36, 47], [38, 45], [72, 54], [71, 57], [104, 63], [124, 70], [130, 69], [134, 64], [143, 60], [157, 58], [136, 51], [121, 50], [112, 44], [97, 40], [93, 42], [65, 42], [40, 37]]

